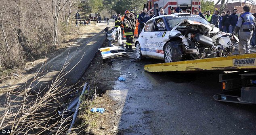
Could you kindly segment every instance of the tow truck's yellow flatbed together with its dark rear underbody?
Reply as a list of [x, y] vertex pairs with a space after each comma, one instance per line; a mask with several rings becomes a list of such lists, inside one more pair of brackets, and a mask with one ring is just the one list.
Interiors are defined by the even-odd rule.
[[256, 53], [148, 64], [144, 69], [147, 72], [231, 71], [219, 75], [222, 93], [215, 94], [214, 100], [256, 104]]

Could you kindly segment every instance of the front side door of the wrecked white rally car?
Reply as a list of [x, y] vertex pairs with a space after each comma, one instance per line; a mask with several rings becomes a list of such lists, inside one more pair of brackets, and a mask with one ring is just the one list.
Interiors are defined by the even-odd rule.
[[162, 17], [155, 19], [153, 30], [150, 33], [150, 50], [153, 50], [152, 55], [157, 58], [164, 58], [164, 36], [166, 33], [166, 24]]

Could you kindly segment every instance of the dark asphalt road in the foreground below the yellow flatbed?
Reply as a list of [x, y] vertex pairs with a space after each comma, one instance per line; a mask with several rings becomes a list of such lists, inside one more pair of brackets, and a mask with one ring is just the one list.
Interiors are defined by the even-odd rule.
[[116, 111], [120, 115], [119, 134], [256, 134], [255, 105], [213, 99], [215, 93], [221, 92], [219, 73], [147, 73], [145, 64], [162, 61], [134, 62], [135, 58], [135, 53], [112, 58], [113, 69], [106, 69], [127, 76], [126, 81], [112, 82], [113, 89], [107, 91], [120, 106]]

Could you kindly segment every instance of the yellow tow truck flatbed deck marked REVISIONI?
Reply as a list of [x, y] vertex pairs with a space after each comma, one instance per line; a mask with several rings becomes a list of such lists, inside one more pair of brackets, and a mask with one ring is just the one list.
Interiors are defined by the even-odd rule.
[[256, 70], [256, 53], [147, 64], [144, 66], [144, 69], [147, 72]]

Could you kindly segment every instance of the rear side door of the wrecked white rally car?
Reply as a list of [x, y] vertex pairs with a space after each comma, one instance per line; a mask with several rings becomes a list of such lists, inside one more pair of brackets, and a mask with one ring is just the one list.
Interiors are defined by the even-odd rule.
[[152, 55], [149, 50], [149, 38], [153, 29], [154, 20], [147, 21], [144, 29], [140, 33], [140, 37], [143, 39], [141, 46], [141, 53], [144, 55]]

